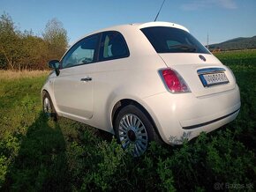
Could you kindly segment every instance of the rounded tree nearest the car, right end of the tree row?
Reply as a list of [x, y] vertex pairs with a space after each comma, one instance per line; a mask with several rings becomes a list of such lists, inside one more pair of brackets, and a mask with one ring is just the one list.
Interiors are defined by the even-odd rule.
[[43, 40], [48, 43], [49, 59], [59, 59], [68, 47], [67, 31], [57, 18], [49, 20], [42, 33]]

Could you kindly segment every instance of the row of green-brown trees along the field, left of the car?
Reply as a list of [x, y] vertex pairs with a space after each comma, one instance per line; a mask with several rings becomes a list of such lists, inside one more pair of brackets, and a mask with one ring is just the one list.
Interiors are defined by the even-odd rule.
[[61, 21], [48, 21], [41, 36], [21, 32], [9, 14], [0, 17], [0, 70], [45, 70], [51, 59], [60, 59], [68, 47]]

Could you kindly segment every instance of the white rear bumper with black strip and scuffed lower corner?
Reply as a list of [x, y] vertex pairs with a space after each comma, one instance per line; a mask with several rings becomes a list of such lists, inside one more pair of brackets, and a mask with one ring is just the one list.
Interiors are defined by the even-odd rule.
[[202, 131], [222, 127], [237, 117], [241, 105], [237, 85], [227, 92], [204, 97], [163, 92], [144, 102], [162, 140], [168, 144], [182, 144], [184, 137], [192, 139]]

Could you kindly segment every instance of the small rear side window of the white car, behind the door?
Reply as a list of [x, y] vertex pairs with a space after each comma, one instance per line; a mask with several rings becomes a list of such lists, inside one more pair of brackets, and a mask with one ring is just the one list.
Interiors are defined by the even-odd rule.
[[101, 60], [117, 59], [129, 56], [124, 37], [118, 32], [105, 32], [102, 35]]

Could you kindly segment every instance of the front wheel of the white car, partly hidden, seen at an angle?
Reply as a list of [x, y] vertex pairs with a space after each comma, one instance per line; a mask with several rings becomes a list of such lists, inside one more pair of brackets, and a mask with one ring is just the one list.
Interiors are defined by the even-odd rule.
[[57, 114], [55, 107], [52, 104], [52, 101], [50, 99], [48, 92], [43, 92], [42, 95], [42, 110], [43, 113], [46, 114], [46, 116], [53, 121], [57, 121]]

